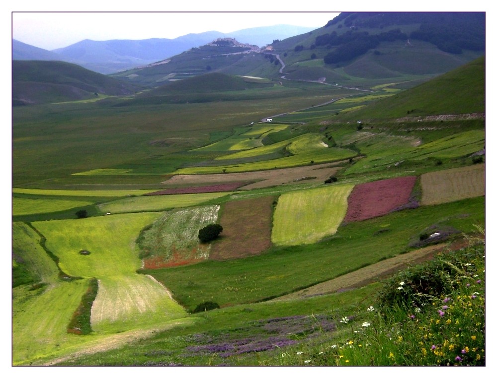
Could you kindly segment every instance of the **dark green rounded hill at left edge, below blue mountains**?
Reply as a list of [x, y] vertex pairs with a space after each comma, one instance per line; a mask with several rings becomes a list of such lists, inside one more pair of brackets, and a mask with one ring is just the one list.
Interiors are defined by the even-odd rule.
[[94, 99], [100, 95], [128, 95], [136, 85], [57, 61], [12, 61], [12, 105]]

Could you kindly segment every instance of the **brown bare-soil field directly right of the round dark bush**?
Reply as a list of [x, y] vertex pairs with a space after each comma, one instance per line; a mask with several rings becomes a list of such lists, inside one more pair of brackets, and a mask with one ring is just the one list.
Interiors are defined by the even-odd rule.
[[276, 197], [230, 201], [220, 222], [223, 232], [211, 245], [210, 259], [226, 260], [259, 254], [271, 246], [272, 206]]

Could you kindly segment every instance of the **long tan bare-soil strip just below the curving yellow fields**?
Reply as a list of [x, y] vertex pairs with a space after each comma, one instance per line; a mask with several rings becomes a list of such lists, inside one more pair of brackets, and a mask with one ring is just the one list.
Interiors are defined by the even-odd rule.
[[219, 173], [205, 175], [176, 175], [162, 184], [170, 187], [213, 186], [224, 183], [240, 183], [242, 190], [267, 188], [275, 185], [295, 184], [306, 180], [311, 183], [322, 183], [336, 174], [344, 162], [316, 164], [305, 167], [272, 169], [267, 171]]

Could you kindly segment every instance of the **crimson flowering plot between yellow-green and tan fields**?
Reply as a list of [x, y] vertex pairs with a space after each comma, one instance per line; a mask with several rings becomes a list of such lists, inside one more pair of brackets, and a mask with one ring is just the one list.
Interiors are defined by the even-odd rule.
[[379, 217], [406, 205], [415, 182], [415, 176], [407, 176], [356, 185], [348, 196], [347, 214], [343, 221]]

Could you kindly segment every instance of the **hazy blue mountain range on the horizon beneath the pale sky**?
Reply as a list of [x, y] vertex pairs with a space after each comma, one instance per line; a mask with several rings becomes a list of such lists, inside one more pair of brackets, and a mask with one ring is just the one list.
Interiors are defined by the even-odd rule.
[[174, 39], [151, 38], [109, 41], [86, 39], [51, 52], [12, 40], [12, 59], [58, 60], [76, 63], [92, 71], [109, 74], [162, 61], [218, 38], [232, 37], [243, 43], [265, 46], [274, 40], [288, 38], [309, 30], [312, 30], [312, 28], [274, 25], [242, 29], [227, 34], [207, 31], [198, 34], [187, 34]]

